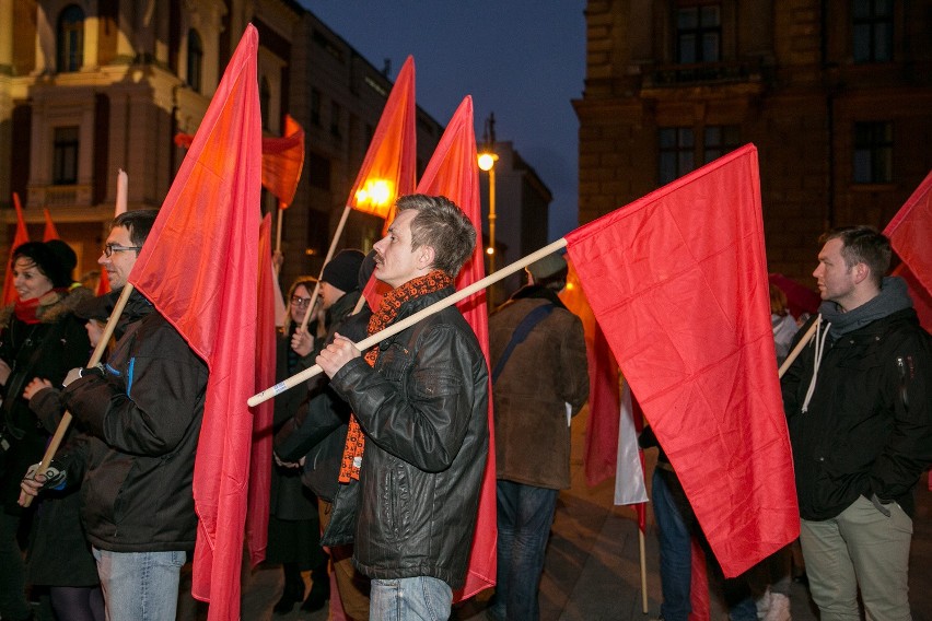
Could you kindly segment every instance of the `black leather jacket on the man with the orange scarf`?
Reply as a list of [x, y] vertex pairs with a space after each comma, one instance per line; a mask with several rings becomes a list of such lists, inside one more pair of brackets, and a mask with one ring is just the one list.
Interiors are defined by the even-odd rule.
[[[395, 321], [447, 297], [406, 302]], [[489, 453], [488, 367], [455, 307], [378, 345], [330, 380], [365, 432], [353, 561], [378, 579], [464, 583]], [[336, 509], [335, 509], [336, 511]]]

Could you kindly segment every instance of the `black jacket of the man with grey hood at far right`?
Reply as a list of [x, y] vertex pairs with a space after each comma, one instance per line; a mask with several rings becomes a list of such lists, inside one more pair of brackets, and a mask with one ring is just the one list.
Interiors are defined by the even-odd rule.
[[802, 412], [813, 343], [782, 379], [802, 517], [829, 519], [873, 494], [912, 515], [913, 488], [932, 464], [932, 339], [907, 308], [827, 340]]

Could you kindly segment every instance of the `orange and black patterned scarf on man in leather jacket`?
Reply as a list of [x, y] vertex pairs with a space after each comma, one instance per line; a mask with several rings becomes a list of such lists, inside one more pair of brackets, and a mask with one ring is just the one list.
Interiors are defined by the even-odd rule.
[[[387, 328], [401, 305], [416, 297], [453, 286], [453, 277], [442, 270], [434, 270], [427, 276], [409, 280], [401, 286], [393, 289], [382, 298], [378, 312], [369, 319], [369, 336], [381, 332]], [[365, 352], [365, 362], [375, 366], [378, 358], [378, 348], [372, 347]], [[359, 426], [354, 414], [350, 414], [349, 431], [347, 431], [347, 443], [343, 447], [343, 459], [340, 465], [340, 483], [349, 483], [350, 479], [359, 480], [359, 468], [362, 466], [362, 453], [365, 449], [365, 434]]]

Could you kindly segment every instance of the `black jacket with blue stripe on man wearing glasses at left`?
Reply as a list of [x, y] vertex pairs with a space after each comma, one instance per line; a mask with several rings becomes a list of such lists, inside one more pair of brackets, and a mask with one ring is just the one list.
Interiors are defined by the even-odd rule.
[[62, 399], [88, 430], [56, 458], [82, 477], [82, 520], [93, 546], [113, 552], [193, 550], [191, 480], [203, 418], [207, 365], [138, 292], [131, 323], [104, 377], [71, 383]]

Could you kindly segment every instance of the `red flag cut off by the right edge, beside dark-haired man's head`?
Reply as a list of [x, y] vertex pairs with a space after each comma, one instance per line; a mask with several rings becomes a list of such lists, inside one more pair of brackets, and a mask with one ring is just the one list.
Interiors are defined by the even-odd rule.
[[884, 229], [890, 245], [912, 272], [914, 280], [932, 295], [932, 172], [912, 192], [897, 214]]

